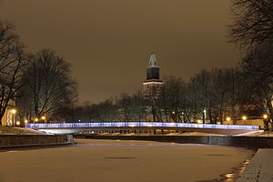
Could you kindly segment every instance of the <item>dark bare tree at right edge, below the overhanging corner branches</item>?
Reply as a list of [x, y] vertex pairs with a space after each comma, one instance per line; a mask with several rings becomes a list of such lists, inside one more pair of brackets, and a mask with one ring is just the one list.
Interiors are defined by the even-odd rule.
[[273, 44], [260, 45], [242, 62], [252, 90], [252, 101], [273, 118]]

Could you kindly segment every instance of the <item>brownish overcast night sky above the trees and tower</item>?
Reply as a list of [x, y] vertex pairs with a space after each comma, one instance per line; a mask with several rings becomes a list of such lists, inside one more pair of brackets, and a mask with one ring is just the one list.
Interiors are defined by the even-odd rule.
[[0, 0], [29, 50], [51, 48], [73, 65], [80, 102], [134, 93], [156, 50], [161, 76], [188, 80], [235, 66], [227, 44], [229, 0]]

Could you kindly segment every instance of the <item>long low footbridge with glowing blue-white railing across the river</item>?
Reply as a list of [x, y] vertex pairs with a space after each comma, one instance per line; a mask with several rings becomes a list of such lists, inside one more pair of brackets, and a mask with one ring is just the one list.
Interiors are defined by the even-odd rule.
[[234, 136], [258, 131], [258, 126], [164, 123], [164, 122], [94, 122], [94, 123], [34, 123], [26, 124], [31, 128], [51, 134], [90, 133], [164, 133], [164, 132], [202, 132]]

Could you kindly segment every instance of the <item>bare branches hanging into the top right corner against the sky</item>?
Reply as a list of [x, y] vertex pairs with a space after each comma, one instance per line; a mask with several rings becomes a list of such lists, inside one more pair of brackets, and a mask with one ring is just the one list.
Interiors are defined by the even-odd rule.
[[230, 41], [248, 50], [272, 42], [272, 0], [231, 0], [231, 2], [234, 17], [233, 23], [229, 26]]

